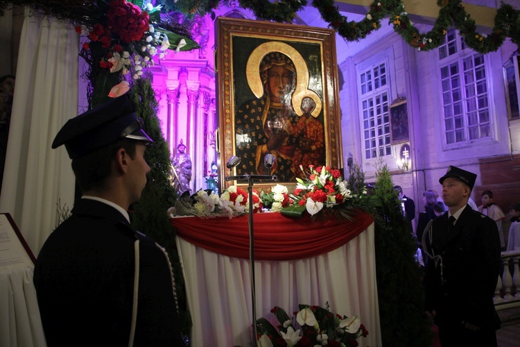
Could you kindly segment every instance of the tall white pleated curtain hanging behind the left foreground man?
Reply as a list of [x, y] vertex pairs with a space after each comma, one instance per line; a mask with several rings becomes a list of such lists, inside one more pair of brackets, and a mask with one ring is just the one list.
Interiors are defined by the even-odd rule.
[[33, 253], [55, 228], [57, 203], [72, 208], [74, 176], [65, 149], [51, 149], [78, 115], [78, 34], [71, 24], [28, 15], [21, 32], [0, 212]]

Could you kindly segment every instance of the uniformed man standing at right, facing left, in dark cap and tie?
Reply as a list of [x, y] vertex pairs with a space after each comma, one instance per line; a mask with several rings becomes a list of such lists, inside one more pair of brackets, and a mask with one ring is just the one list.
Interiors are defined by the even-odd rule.
[[476, 174], [449, 167], [439, 182], [448, 213], [424, 232], [426, 314], [446, 346], [496, 346], [493, 296], [501, 264], [496, 223], [467, 205]]

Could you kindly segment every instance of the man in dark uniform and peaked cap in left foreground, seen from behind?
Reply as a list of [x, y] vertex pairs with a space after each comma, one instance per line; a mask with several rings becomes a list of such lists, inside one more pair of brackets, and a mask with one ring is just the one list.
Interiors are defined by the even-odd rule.
[[50, 347], [184, 346], [168, 257], [128, 218], [150, 172], [150, 142], [126, 95], [70, 119], [54, 139], [83, 196], [35, 264]]

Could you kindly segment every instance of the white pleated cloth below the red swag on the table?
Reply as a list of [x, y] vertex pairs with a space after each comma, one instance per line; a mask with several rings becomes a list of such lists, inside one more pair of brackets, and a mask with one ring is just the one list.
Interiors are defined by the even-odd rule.
[[[191, 346], [251, 346], [252, 305], [249, 260], [228, 257], [177, 237], [193, 319]], [[359, 316], [369, 335], [359, 346], [381, 346], [374, 252], [374, 223], [344, 246], [302, 260], [254, 263], [257, 319], [279, 324], [270, 309], [289, 316], [298, 304]]]

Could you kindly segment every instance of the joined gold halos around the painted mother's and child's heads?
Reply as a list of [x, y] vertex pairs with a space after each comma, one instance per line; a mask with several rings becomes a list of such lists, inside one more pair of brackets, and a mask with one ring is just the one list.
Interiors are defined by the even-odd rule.
[[[257, 98], [261, 98], [263, 95], [263, 85], [260, 78], [260, 62], [263, 57], [265, 57], [268, 53], [271, 52], [280, 52], [284, 53], [286, 56], [293, 60], [293, 63], [296, 68], [296, 88], [293, 93], [293, 97], [291, 98], [291, 102], [293, 103], [293, 108], [297, 115], [303, 115], [301, 110], [302, 100], [305, 96], [311, 97], [315, 104], [316, 108], [312, 112], [313, 117], [318, 117], [320, 112], [315, 112], [316, 110], [320, 110], [322, 108], [322, 102], [313, 90], [309, 90], [307, 87], [309, 86], [309, 69], [307, 69], [307, 64], [296, 49], [289, 46], [284, 42], [279, 41], [270, 41], [264, 42], [257, 46], [257, 48], [252, 51], [248, 58], [248, 62], [245, 65], [245, 76], [248, 80], [248, 85], [253, 92], [254, 96]], [[296, 97], [295, 97], [296, 96]], [[316, 113], [316, 115], [315, 115]]]

